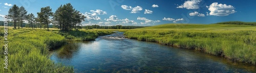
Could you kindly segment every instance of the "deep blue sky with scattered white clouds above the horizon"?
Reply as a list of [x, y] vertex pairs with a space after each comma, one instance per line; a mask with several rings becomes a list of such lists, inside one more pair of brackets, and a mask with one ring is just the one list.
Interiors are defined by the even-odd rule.
[[[37, 16], [40, 8], [52, 11], [67, 3], [88, 18], [83, 25], [155, 26], [164, 23], [209, 24], [222, 21], [256, 21], [256, 1], [233, 0], [1, 0], [0, 16], [12, 5], [24, 6]], [[0, 17], [4, 20], [3, 17]]]

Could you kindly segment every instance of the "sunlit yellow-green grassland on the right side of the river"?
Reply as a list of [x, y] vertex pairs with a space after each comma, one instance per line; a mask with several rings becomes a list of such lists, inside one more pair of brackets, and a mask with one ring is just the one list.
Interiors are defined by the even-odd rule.
[[127, 38], [204, 51], [256, 63], [256, 26], [166, 24], [126, 31]]

